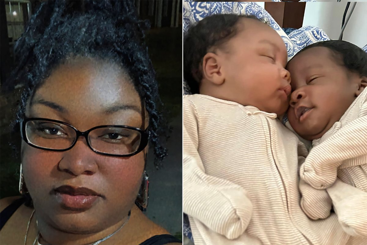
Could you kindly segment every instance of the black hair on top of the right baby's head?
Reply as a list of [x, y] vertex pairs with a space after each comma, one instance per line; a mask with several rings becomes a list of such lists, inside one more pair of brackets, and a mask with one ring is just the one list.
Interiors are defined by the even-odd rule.
[[294, 55], [294, 57], [303, 51], [314, 47], [328, 48], [333, 55], [332, 58], [334, 60], [340, 61], [341, 65], [343, 65], [350, 72], [358, 73], [360, 76], [367, 76], [367, 53], [355, 44], [346, 41], [328, 40], [313, 43], [303, 48], [296, 55]]

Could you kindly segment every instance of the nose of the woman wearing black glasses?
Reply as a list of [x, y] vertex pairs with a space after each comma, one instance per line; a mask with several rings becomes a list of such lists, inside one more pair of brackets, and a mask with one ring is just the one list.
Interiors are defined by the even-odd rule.
[[63, 152], [58, 169], [73, 176], [92, 175], [98, 169], [96, 154], [88, 147], [85, 138], [80, 137], [73, 148]]

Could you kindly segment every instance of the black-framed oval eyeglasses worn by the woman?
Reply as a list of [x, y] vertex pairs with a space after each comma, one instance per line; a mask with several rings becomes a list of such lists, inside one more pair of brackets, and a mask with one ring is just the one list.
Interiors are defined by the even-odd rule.
[[67, 151], [84, 136], [92, 151], [108, 156], [132, 156], [149, 141], [147, 129], [103, 125], [81, 132], [72, 125], [47, 118], [26, 118], [21, 122], [22, 139], [30, 146], [48, 151]]

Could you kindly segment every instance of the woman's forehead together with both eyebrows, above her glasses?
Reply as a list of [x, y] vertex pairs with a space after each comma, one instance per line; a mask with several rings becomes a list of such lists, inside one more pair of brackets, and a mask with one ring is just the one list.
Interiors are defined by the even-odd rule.
[[[35, 92], [30, 105], [59, 113], [141, 115], [141, 100], [130, 77], [116, 64], [76, 58], [55, 68]], [[42, 109], [37, 107], [37, 111]], [[140, 117], [141, 118], [141, 117]]]

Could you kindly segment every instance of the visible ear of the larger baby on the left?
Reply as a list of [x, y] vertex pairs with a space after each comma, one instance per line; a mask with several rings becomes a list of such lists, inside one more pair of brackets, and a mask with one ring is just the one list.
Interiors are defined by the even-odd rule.
[[207, 53], [204, 55], [203, 79], [206, 79], [215, 85], [221, 85], [224, 82], [223, 68], [217, 54]]

